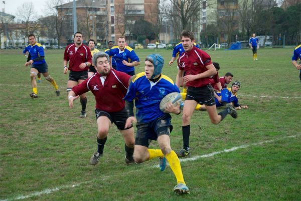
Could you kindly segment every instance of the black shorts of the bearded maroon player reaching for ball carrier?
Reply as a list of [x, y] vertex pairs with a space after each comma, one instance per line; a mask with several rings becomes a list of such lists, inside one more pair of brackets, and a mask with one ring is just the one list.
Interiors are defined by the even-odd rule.
[[119, 112], [106, 112], [106, 111], [103, 111], [100, 109], [96, 109], [95, 114], [96, 114], [96, 116], [95, 116], [96, 119], [98, 119], [98, 117], [100, 117], [100, 116], [108, 117], [110, 119], [111, 123], [112, 124], [114, 123], [119, 130], [127, 130], [127, 129], [133, 127], [133, 126], [130, 126], [129, 128], [124, 129], [126, 119], [128, 118], [128, 114], [127, 114], [125, 108], [123, 108]]

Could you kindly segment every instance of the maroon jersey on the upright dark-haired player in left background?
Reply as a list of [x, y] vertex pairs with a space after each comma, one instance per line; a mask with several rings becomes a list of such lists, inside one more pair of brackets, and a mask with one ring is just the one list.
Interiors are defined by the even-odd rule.
[[86, 66], [84, 69], [79, 68], [81, 63], [89, 62], [92, 64], [92, 55], [88, 46], [82, 44], [77, 51], [76, 46], [73, 44], [68, 45], [65, 49], [64, 60], [69, 61], [69, 70], [71, 71], [86, 71], [89, 69]]

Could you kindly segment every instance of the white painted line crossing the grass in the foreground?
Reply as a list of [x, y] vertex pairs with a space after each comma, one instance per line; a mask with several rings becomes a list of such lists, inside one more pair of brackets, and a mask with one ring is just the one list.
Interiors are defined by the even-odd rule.
[[[214, 155], [217, 155], [217, 154], [220, 154], [220, 153], [227, 153], [227, 152], [235, 151], [237, 149], [246, 148], [246, 147], [249, 147], [249, 146], [252, 146], [252, 145], [259, 145], [259, 144], [264, 144], [264, 143], [270, 143], [270, 142], [273, 142], [275, 140], [289, 138], [289, 137], [297, 137], [299, 135], [301, 135], [301, 134], [284, 136], [284, 137], [279, 137], [279, 138], [274, 139], [274, 140], [267, 140], [267, 141], [263, 141], [263, 142], [256, 142], [256, 143], [245, 144], [245, 145], [241, 145], [241, 146], [234, 146], [234, 147], [232, 147], [230, 149], [224, 149], [222, 151], [217, 151], [217, 152], [212, 152], [212, 153], [204, 154], [204, 155], [200, 155], [200, 156], [195, 156], [195, 157], [180, 159], [180, 161], [181, 162], [185, 162], [185, 161], [190, 161], [190, 160], [197, 160], [199, 158], [207, 158], [207, 157], [211, 157], [211, 156], [214, 156]], [[155, 167], [158, 168], [159, 165], [153, 165], [151, 167], [152, 168], [155, 168]], [[89, 183], [91, 181], [92, 180], [86, 181], [86, 182], [79, 182], [79, 183], [75, 183], [75, 184], [72, 184], [72, 185], [71, 184], [70, 185], [61, 185], [61, 186], [58, 186], [58, 187], [55, 187], [55, 188], [46, 188], [45, 190], [38, 191], [38, 192], [33, 192], [31, 194], [28, 194], [28, 195], [19, 195], [17, 197], [11, 197], [11, 198], [7, 198], [7, 199], [1, 199], [0, 201], [11, 201], [11, 200], [18, 200], [18, 199], [26, 199], [26, 198], [29, 198], [29, 197], [39, 196], [39, 195], [42, 195], [42, 194], [49, 194], [49, 193], [58, 191], [58, 190], [60, 190], [62, 188], [76, 187], [76, 186], [79, 186], [81, 184]]]

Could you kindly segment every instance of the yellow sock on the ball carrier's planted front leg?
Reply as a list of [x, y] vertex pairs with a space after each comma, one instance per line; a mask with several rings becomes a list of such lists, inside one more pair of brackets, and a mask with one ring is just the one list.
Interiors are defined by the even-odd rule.
[[168, 160], [171, 169], [173, 170], [178, 183], [184, 183], [184, 177], [181, 169], [180, 160], [174, 150], [172, 150], [170, 153], [166, 154], [166, 159]]

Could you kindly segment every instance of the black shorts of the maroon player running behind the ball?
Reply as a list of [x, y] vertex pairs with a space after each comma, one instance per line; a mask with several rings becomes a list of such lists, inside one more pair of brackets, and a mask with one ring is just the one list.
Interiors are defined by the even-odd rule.
[[188, 87], [185, 100], [195, 100], [202, 105], [215, 105], [214, 89], [210, 84], [203, 87]]

